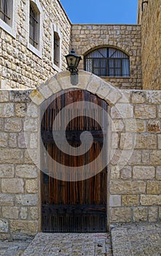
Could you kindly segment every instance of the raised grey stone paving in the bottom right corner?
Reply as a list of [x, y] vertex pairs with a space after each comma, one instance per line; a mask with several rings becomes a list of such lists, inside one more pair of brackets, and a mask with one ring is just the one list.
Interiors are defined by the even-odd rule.
[[111, 241], [114, 256], [160, 256], [161, 223], [115, 227]]

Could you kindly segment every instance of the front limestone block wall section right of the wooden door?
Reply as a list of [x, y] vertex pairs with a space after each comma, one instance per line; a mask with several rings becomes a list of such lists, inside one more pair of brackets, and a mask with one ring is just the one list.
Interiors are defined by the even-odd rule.
[[[111, 107], [109, 222], [161, 219], [161, 93], [122, 91]], [[114, 148], [112, 150], [112, 148]]]

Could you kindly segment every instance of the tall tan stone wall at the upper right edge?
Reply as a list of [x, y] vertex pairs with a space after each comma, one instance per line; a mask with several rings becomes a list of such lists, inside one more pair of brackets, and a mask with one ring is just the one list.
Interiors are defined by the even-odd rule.
[[161, 89], [161, 4], [160, 0], [138, 1], [138, 23], [141, 24], [141, 60], [143, 88]]

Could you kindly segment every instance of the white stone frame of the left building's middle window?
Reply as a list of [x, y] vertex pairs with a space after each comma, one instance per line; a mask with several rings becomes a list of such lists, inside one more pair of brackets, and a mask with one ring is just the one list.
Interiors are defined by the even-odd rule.
[[[36, 47], [31, 43], [31, 24], [30, 24], [30, 10], [31, 5], [33, 6], [33, 9], [36, 12]], [[28, 45], [27, 48], [31, 50], [36, 56], [38, 56], [40, 59], [42, 59], [42, 7], [39, 2], [39, 0], [30, 0], [28, 3]]]

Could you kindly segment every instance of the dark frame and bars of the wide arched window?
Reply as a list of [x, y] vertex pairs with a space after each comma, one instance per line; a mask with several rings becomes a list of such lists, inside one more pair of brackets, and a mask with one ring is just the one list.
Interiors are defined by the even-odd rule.
[[[107, 56], [106, 57], [87, 57], [91, 53], [97, 52], [99, 50], [107, 50]], [[124, 57], [111, 57], [109, 56], [109, 50], [116, 50], [119, 53], [122, 53]], [[112, 54], [113, 55], [113, 54]], [[90, 71], [87, 69], [87, 60], [91, 61]], [[126, 73], [123, 72], [123, 61], [127, 60], [127, 67], [126, 67]], [[113, 66], [111, 66], [113, 61]], [[95, 63], [99, 62], [98, 67], [95, 67]], [[101, 67], [101, 63], [105, 63], [103, 67]], [[119, 63], [119, 65], [117, 64]], [[126, 53], [124, 53], [119, 48], [112, 48], [112, 47], [103, 47], [103, 48], [97, 48], [93, 51], [90, 51], [90, 53], [87, 53], [85, 55], [85, 70], [88, 72], [92, 72], [94, 75], [98, 75], [99, 77], [108, 77], [108, 78], [130, 78], [130, 56], [128, 56]], [[97, 72], [96, 72], [97, 70]], [[103, 73], [104, 70], [104, 73]], [[113, 73], [111, 72], [113, 71]], [[101, 75], [101, 72], [103, 75]]]

